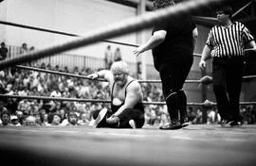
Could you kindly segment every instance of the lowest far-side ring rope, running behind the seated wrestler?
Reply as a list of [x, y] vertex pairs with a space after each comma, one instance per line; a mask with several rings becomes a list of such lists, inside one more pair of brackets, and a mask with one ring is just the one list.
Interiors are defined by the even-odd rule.
[[[19, 99], [39, 99], [39, 100], [53, 100], [53, 101], [68, 101], [68, 102], [88, 102], [88, 103], [111, 103], [110, 100], [102, 99], [83, 99], [83, 98], [63, 98], [63, 97], [47, 97], [47, 96], [33, 96], [33, 95], [10, 95], [0, 94], [0, 98], [19, 98]], [[143, 105], [166, 105], [165, 102], [147, 102], [143, 101]], [[256, 102], [240, 102], [240, 105], [256, 105]], [[187, 103], [188, 106], [216, 106], [216, 103], [206, 100], [204, 103]]]

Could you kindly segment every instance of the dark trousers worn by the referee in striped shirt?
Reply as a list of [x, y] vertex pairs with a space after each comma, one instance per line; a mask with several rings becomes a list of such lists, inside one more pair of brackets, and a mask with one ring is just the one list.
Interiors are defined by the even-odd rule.
[[213, 58], [213, 91], [218, 112], [223, 120], [240, 121], [239, 99], [243, 70], [243, 58]]

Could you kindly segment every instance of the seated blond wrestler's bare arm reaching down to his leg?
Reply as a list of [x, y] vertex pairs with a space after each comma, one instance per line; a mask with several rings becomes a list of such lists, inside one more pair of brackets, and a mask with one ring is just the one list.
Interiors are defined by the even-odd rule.
[[134, 108], [137, 105], [137, 102], [141, 100], [142, 91], [140, 85], [137, 81], [132, 82], [126, 91], [126, 98], [124, 104], [119, 108], [119, 110], [114, 114], [114, 116], [119, 116], [119, 114], [125, 108]]

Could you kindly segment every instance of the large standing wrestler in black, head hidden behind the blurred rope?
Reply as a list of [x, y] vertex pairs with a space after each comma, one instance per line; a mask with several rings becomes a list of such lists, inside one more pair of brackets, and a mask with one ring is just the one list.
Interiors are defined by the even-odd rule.
[[[155, 0], [155, 9], [174, 6], [174, 0]], [[155, 25], [150, 40], [134, 51], [138, 56], [152, 49], [155, 69], [159, 72], [171, 124], [160, 129], [179, 129], [189, 125], [187, 96], [183, 84], [192, 67], [197, 28], [187, 14], [176, 15], [168, 22]]]

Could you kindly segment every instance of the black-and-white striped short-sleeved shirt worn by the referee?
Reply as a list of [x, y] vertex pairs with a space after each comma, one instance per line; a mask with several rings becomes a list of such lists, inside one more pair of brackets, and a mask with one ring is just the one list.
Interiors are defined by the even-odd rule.
[[213, 48], [211, 57], [230, 58], [244, 56], [244, 46], [253, 40], [245, 25], [234, 22], [229, 27], [222, 25], [212, 27], [206, 44]]

